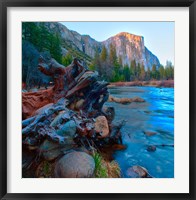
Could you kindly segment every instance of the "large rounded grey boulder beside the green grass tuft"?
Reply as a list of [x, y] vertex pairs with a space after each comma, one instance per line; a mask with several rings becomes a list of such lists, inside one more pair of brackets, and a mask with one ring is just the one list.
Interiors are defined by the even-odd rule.
[[84, 152], [73, 151], [57, 161], [54, 169], [56, 178], [93, 177], [95, 162], [92, 156]]

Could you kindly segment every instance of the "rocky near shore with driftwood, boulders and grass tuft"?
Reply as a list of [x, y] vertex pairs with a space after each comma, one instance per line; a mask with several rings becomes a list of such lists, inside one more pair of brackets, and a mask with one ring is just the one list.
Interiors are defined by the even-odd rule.
[[108, 83], [77, 59], [65, 68], [41, 58], [38, 68], [55, 84], [22, 93], [23, 177], [120, 177], [112, 155], [125, 148], [124, 122], [113, 123], [114, 108], [103, 106]]

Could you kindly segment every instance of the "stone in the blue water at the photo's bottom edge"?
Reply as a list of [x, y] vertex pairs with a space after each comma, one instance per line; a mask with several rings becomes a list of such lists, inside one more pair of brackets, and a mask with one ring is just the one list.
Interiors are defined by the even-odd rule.
[[127, 169], [126, 175], [129, 178], [146, 178], [148, 171], [144, 167], [135, 165]]

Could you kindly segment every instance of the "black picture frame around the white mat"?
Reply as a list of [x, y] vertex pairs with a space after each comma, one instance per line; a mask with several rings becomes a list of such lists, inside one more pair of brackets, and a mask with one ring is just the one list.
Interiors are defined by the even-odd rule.
[[[7, 193], [7, 8], [8, 7], [189, 7], [189, 188], [185, 193], [150, 194], [14, 194]], [[196, 2], [194, 0], [1, 0], [0, 3], [0, 197], [1, 199], [191, 199], [195, 192], [196, 113]], [[182, 91], [183, 92], [183, 91]]]

